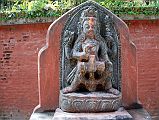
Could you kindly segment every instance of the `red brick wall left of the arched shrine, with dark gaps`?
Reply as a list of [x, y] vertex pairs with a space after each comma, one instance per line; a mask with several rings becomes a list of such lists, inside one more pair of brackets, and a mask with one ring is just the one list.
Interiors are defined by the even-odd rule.
[[37, 58], [49, 25], [0, 26], [0, 119], [27, 117], [38, 105]]

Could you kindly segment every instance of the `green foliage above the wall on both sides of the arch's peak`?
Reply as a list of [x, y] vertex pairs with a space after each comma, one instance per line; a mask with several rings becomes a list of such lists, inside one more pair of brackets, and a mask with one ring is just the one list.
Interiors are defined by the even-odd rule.
[[[5, 0], [7, 1], [7, 0]], [[68, 9], [86, 0], [8, 0], [13, 4], [11, 9], [0, 9], [0, 21], [14, 18], [59, 17]], [[143, 2], [127, 2], [125, 0], [95, 0], [113, 13], [128, 15], [158, 15], [159, 2], [146, 5]]]

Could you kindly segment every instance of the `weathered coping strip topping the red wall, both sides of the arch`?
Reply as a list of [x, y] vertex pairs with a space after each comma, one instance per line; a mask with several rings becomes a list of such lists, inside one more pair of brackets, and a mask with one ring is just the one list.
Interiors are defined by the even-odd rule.
[[[119, 15], [122, 20], [159, 20], [159, 15]], [[17, 25], [17, 24], [34, 24], [53, 22], [58, 17], [38, 17], [38, 18], [17, 18], [7, 21], [0, 21], [2, 25]]]

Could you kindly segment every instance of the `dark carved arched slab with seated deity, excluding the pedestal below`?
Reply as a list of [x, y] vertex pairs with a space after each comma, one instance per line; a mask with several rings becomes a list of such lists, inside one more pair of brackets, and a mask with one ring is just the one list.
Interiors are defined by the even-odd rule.
[[61, 35], [61, 88], [69, 86], [65, 93], [81, 84], [88, 91], [96, 91], [97, 86], [105, 91], [112, 86], [120, 89], [120, 43], [114, 21], [108, 10], [94, 2], [79, 7]]

